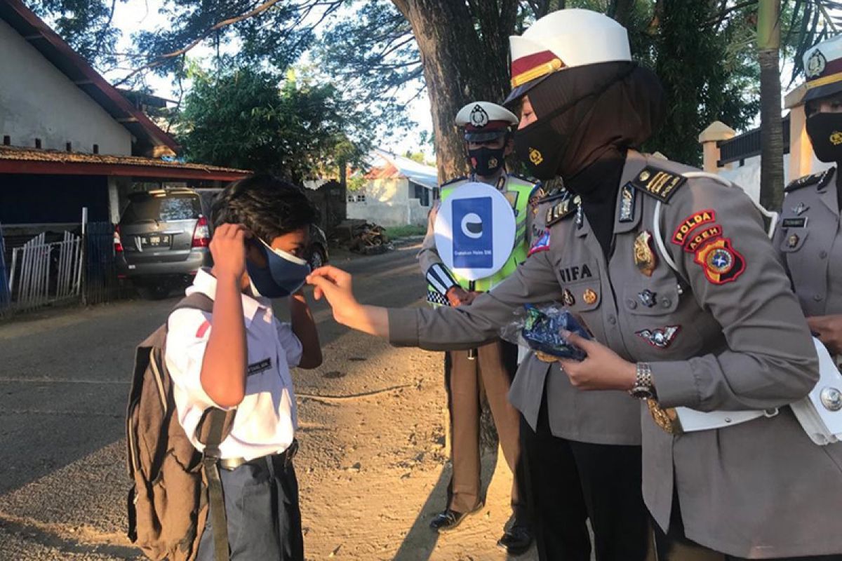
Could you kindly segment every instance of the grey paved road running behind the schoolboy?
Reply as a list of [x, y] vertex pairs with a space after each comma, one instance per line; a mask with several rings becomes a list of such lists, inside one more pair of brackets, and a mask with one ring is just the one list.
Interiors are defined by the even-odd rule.
[[[424, 288], [414, 253], [339, 265], [359, 273], [363, 301], [403, 306]], [[176, 301], [52, 310], [0, 324], [0, 560], [134, 558], [120, 537], [133, 352]], [[316, 312], [322, 342], [342, 335], [323, 304]]]

